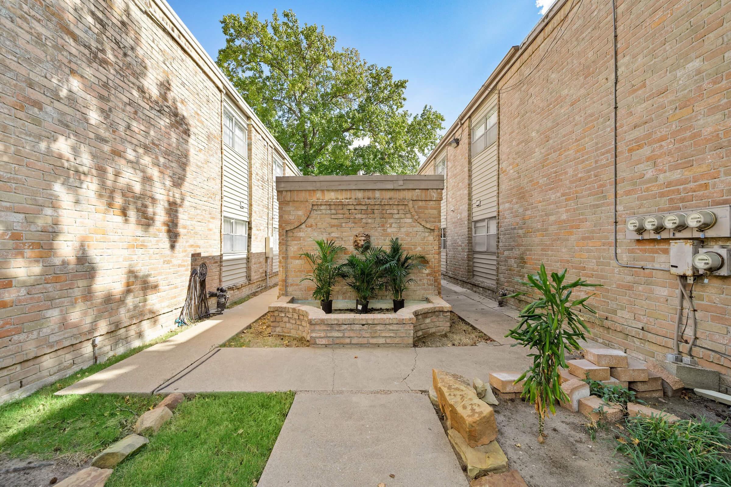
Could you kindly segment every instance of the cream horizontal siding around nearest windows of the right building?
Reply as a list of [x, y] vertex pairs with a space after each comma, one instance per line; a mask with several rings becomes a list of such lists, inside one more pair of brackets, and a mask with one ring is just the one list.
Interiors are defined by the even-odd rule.
[[[471, 126], [479, 122], [496, 107], [496, 94], [488, 96], [482, 106], [471, 117]], [[472, 221], [497, 215], [498, 211], [498, 144], [493, 142], [471, 157], [471, 207]], [[471, 226], [471, 225], [470, 225]], [[475, 280], [497, 287], [496, 253], [474, 252], [472, 255], [472, 276]]]

